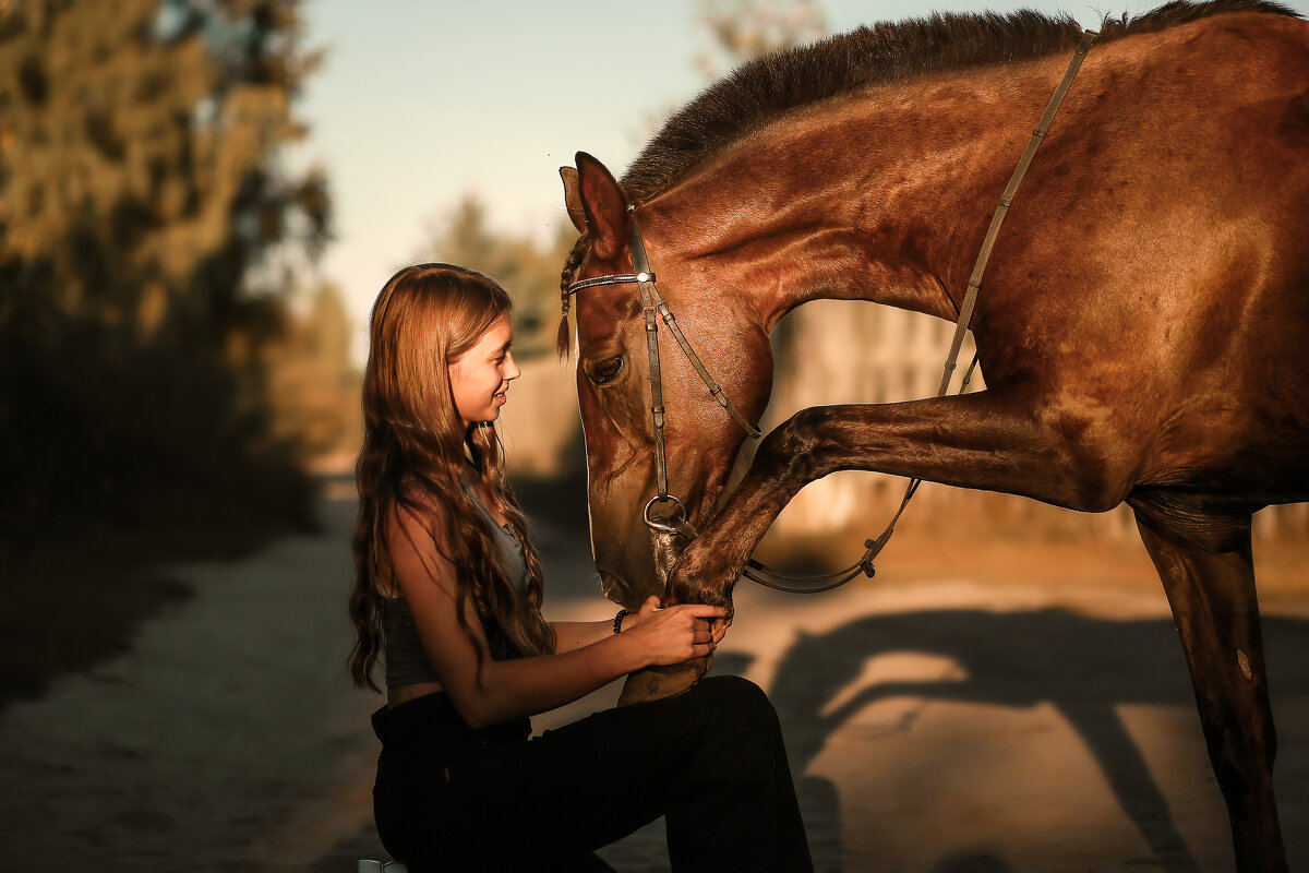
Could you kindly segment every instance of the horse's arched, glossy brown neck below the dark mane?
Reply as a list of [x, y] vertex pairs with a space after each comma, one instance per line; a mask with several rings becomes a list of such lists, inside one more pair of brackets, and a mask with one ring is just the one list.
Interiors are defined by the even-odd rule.
[[1031, 130], [1026, 101], [990, 97], [908, 84], [775, 123], [653, 202], [653, 221], [694, 229], [687, 262], [734, 274], [766, 330], [819, 298], [954, 319]]

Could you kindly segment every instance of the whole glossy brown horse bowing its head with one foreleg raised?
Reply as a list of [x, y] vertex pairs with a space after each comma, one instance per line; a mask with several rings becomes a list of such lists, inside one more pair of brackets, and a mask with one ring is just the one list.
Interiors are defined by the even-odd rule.
[[[768, 332], [792, 308], [857, 298], [956, 319], [1079, 37], [1034, 13], [936, 16], [754, 62], [674, 116], [622, 183], [586, 154], [563, 170], [583, 232], [565, 287], [635, 271], [637, 224], [704, 366], [758, 421]], [[1085, 512], [1126, 500], [1173, 606], [1238, 865], [1285, 869], [1250, 516], [1309, 499], [1306, 204], [1309, 26], [1255, 0], [1106, 21], [982, 283], [984, 391], [804, 410], [725, 495], [742, 431], [658, 335], [668, 491], [700, 529], [681, 554], [643, 520], [656, 476], [637, 287], [583, 289], [606, 593], [729, 602], [787, 501], [836, 470]]]

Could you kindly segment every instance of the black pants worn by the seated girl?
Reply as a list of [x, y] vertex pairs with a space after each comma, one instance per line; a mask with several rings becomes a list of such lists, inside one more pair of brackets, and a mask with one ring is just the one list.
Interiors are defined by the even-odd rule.
[[678, 873], [813, 869], [778, 715], [740, 677], [530, 739], [526, 719], [469, 728], [444, 694], [373, 729], [377, 831], [412, 873], [597, 869], [593, 849], [660, 815]]

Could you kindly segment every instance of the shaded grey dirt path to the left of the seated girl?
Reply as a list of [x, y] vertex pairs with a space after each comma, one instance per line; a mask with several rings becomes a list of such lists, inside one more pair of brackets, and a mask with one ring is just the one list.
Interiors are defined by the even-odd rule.
[[[0, 869], [305, 870], [367, 821], [344, 682], [352, 505], [318, 537], [170, 568], [194, 597], [0, 719]], [[356, 791], [357, 794], [357, 791]]]

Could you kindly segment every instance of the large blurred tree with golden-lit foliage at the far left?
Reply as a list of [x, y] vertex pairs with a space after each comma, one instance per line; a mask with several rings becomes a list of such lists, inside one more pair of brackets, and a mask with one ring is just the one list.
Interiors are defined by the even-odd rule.
[[297, 0], [0, 4], [0, 526], [301, 513], [267, 407], [270, 259], [329, 238], [279, 148]]

